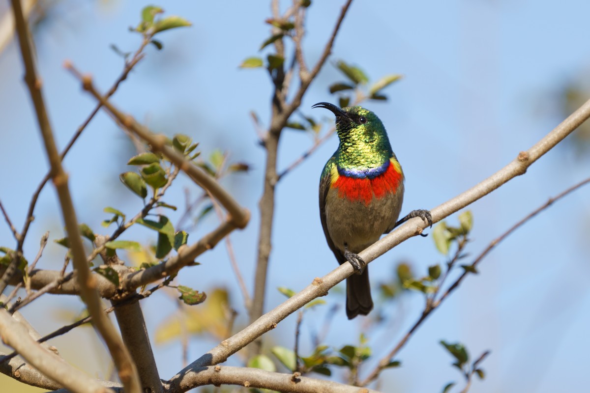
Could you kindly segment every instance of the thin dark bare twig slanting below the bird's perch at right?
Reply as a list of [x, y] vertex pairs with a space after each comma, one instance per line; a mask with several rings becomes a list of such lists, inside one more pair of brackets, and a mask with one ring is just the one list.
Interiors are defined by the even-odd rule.
[[[489, 254], [489, 252], [494, 247], [496, 247], [502, 240], [506, 239], [506, 237], [509, 236], [510, 234], [512, 234], [514, 232], [514, 230], [518, 229], [520, 226], [522, 226], [527, 221], [529, 221], [530, 219], [535, 217], [537, 214], [539, 214], [543, 210], [547, 209], [553, 202], [565, 197], [567, 194], [572, 193], [572, 191], [575, 191], [575, 190], [579, 189], [579, 187], [582, 187], [588, 183], [590, 183], [590, 178], [583, 180], [580, 183], [575, 184], [572, 187], [569, 187], [567, 190], [563, 191], [562, 193], [558, 194], [557, 196], [550, 198], [545, 204], [543, 204], [542, 206], [539, 206], [537, 209], [533, 210], [532, 213], [527, 214], [527, 216], [525, 216], [522, 220], [520, 220], [519, 222], [514, 224], [512, 227], [510, 227], [509, 230], [507, 230], [502, 235], [497, 237], [497, 239], [492, 240], [492, 242], [486, 247], [486, 249], [483, 250], [483, 252], [480, 253], [479, 256], [476, 257], [476, 259], [473, 261], [473, 263], [471, 263], [470, 266], [476, 267], [477, 264], [479, 262], [481, 262], [481, 260], [484, 257], [486, 257]], [[470, 273], [467, 270], [465, 270], [463, 272], [463, 274], [461, 274], [461, 276], [459, 276], [459, 278], [457, 280], [455, 280], [455, 282], [441, 295], [440, 299], [434, 300], [432, 302], [432, 305], [430, 306], [430, 308], [427, 308], [422, 312], [422, 315], [420, 316], [420, 318], [418, 318], [418, 321], [416, 321], [414, 323], [414, 325], [412, 325], [412, 327], [409, 329], [409, 331], [407, 333], [405, 333], [404, 337], [398, 342], [398, 344], [395, 346], [395, 348], [392, 349], [392, 351], [389, 352], [389, 354], [387, 356], [383, 357], [381, 359], [381, 361], [379, 361], [378, 366], [376, 366], [376, 368], [373, 369], [371, 374], [369, 374], [369, 376], [367, 378], [365, 378], [365, 380], [360, 383], [360, 386], [368, 385], [369, 383], [374, 381], [379, 376], [379, 374], [385, 368], [385, 366], [388, 365], [389, 362], [395, 357], [395, 355], [398, 354], [399, 350], [408, 342], [409, 338], [411, 338], [412, 334], [416, 331], [416, 329], [418, 329], [418, 327], [422, 324], [422, 322], [424, 322], [424, 320], [428, 317], [428, 315], [430, 315], [435, 309], [437, 309], [438, 306], [440, 306], [441, 303], [455, 289], [458, 288], [461, 281], [463, 281], [463, 279], [466, 278], [466, 276], [468, 274], [470, 274]]]

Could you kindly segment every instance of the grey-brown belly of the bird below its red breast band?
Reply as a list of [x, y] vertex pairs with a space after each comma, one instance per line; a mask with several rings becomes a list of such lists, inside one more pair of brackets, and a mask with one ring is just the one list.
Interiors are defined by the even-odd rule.
[[395, 194], [365, 202], [340, 198], [337, 190], [326, 196], [326, 226], [332, 242], [343, 251], [345, 245], [353, 253], [359, 253], [372, 245], [381, 235], [391, 230], [398, 220], [404, 197], [404, 186]]

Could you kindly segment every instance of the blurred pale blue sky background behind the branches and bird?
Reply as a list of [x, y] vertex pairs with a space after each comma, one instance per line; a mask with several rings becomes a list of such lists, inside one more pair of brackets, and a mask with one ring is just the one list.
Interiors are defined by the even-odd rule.
[[[95, 103], [63, 68], [64, 60], [93, 75], [106, 91], [123, 69], [113, 51], [132, 52], [140, 35], [129, 32], [140, 19], [143, 1], [47, 1], [34, 12], [38, 68], [44, 82], [50, 120], [63, 148]], [[342, 1], [313, 2], [308, 11], [303, 46], [310, 64], [319, 58], [340, 12]], [[258, 199], [262, 192], [265, 151], [251, 121], [270, 118], [271, 84], [267, 72], [238, 68], [258, 53], [270, 36], [270, 4], [257, 2], [166, 1], [166, 15], [181, 15], [190, 28], [163, 32], [162, 51], [146, 49], [147, 57], [113, 96], [113, 102], [152, 130], [172, 136], [188, 134], [199, 141], [202, 156], [227, 151], [230, 161], [248, 163], [250, 171], [232, 174], [224, 185], [253, 213], [247, 228], [231, 235], [237, 262], [250, 292], [258, 240]], [[281, 5], [281, 9], [290, 4]], [[8, 2], [0, 18], [11, 18]], [[590, 96], [590, 3], [582, 0], [451, 0], [447, 2], [353, 1], [329, 62], [304, 97], [300, 111], [326, 120], [326, 111], [312, 111], [319, 101], [337, 103], [328, 91], [343, 80], [335, 67], [345, 60], [362, 68], [372, 80], [385, 74], [404, 78], [388, 87], [388, 101], [370, 101], [386, 128], [404, 167], [406, 194], [402, 214], [432, 209], [467, 190], [513, 160], [555, 127]], [[2, 22], [5, 23], [5, 22]], [[22, 62], [14, 39], [0, 41], [0, 200], [17, 228], [25, 219], [30, 196], [47, 171], [47, 160], [28, 92], [22, 82]], [[296, 116], [296, 115], [294, 115]], [[323, 132], [324, 132], [323, 131]], [[286, 130], [281, 138], [279, 170], [313, 143], [306, 131]], [[327, 158], [337, 146], [333, 136], [277, 187], [266, 311], [284, 300], [277, 287], [300, 290], [316, 276], [336, 267], [324, 240], [317, 207], [317, 186]], [[545, 203], [549, 197], [590, 176], [590, 131], [584, 125], [537, 161], [525, 176], [470, 206], [473, 240], [467, 247], [477, 255], [491, 240]], [[135, 154], [126, 136], [99, 113], [65, 158], [78, 219], [97, 233], [109, 219], [103, 208], [113, 206], [133, 216], [143, 204], [117, 179]], [[181, 175], [165, 201], [184, 206], [185, 190], [199, 190]], [[182, 185], [181, 185], [182, 184]], [[501, 243], [399, 352], [401, 368], [386, 371], [377, 386], [384, 392], [438, 392], [448, 382], [463, 386], [453, 358], [439, 344], [462, 342], [471, 357], [490, 350], [481, 364], [486, 379], [476, 379], [473, 392], [580, 391], [587, 385], [590, 350], [590, 187], [576, 191], [526, 224]], [[176, 223], [180, 210], [169, 214]], [[57, 198], [48, 185], [41, 193], [35, 222], [25, 243], [25, 256], [34, 258], [41, 235], [50, 230], [50, 243], [38, 267], [58, 270], [65, 249], [54, 239], [64, 236]], [[456, 224], [456, 216], [447, 219]], [[191, 232], [189, 241], [217, 224], [209, 214]], [[124, 239], [146, 243], [153, 232], [133, 228]], [[0, 246], [14, 248], [8, 227], [0, 224]], [[124, 255], [123, 255], [124, 257]], [[467, 259], [468, 260], [468, 259]], [[235, 329], [247, 323], [243, 299], [223, 243], [202, 255], [200, 266], [189, 267], [177, 279], [182, 285], [224, 297], [238, 312]], [[415, 275], [444, 263], [432, 237], [415, 237], [371, 263], [375, 298], [378, 283], [395, 280], [399, 263]], [[215, 292], [217, 288], [218, 292]], [[405, 291], [395, 301], [378, 305], [369, 318], [346, 320], [343, 286], [324, 298], [327, 305], [306, 312], [301, 354], [313, 351], [312, 337], [322, 331], [332, 305], [340, 305], [324, 344], [340, 348], [358, 344], [364, 331], [374, 361], [385, 355], [419, 317], [421, 294]], [[182, 368], [182, 344], [171, 324], [178, 321], [174, 293], [161, 291], [142, 302], [160, 376], [172, 377]], [[207, 305], [194, 306], [204, 308]], [[42, 335], [74, 321], [83, 304], [71, 296], [42, 296], [23, 310]], [[378, 328], [368, 319], [383, 316]], [[267, 345], [292, 348], [296, 315], [264, 338]], [[197, 330], [195, 328], [195, 330]], [[189, 336], [188, 359], [193, 361], [219, 342], [207, 332]], [[88, 326], [51, 342], [65, 359], [100, 378], [113, 369], [103, 344]], [[240, 365], [234, 355], [227, 364]], [[371, 360], [362, 371], [369, 372]], [[336, 380], [342, 372], [335, 369]], [[0, 376], [5, 391], [38, 391]]]

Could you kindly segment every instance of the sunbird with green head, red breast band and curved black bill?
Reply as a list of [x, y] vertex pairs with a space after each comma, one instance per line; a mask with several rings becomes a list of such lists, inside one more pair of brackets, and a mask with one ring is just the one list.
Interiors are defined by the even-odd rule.
[[432, 216], [418, 209], [398, 221], [404, 172], [375, 113], [330, 103], [312, 108], [326, 108], [336, 115], [339, 144], [320, 176], [320, 220], [338, 263], [348, 261], [355, 269], [356, 274], [346, 279], [346, 316], [353, 319], [373, 309], [368, 266], [358, 253], [412, 217], [432, 226]]

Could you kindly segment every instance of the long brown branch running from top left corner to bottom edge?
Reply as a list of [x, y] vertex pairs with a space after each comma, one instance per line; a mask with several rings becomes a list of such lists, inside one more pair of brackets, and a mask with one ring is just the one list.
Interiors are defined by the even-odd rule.
[[55, 146], [53, 138], [53, 130], [51, 130], [47, 111], [45, 110], [45, 103], [41, 93], [41, 80], [37, 77], [37, 72], [35, 71], [30, 34], [27, 23], [22, 15], [20, 0], [12, 0], [12, 9], [15, 16], [15, 25], [17, 26], [22, 61], [25, 65], [25, 81], [27, 82], [31, 94], [35, 113], [37, 114], [37, 121], [41, 128], [45, 150], [47, 151], [48, 160], [51, 164], [53, 183], [57, 190], [65, 228], [70, 239], [71, 252], [73, 255], [74, 266], [78, 272], [78, 283], [80, 285], [81, 295], [84, 302], [86, 302], [90, 315], [93, 316], [94, 326], [96, 326], [109, 347], [115, 365], [119, 370], [119, 377], [121, 378], [121, 381], [123, 381], [126, 391], [139, 393], [141, 388], [135, 366], [131, 361], [129, 352], [127, 352], [123, 342], [117, 335], [114, 326], [102, 311], [99, 295], [94, 288], [95, 281], [91, 279], [90, 269], [86, 263], [86, 253], [84, 252], [84, 246], [78, 230], [76, 212], [68, 189], [68, 176], [61, 166], [61, 158], [57, 152], [57, 147]]

